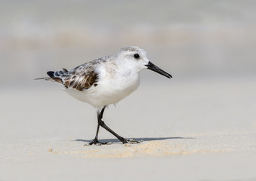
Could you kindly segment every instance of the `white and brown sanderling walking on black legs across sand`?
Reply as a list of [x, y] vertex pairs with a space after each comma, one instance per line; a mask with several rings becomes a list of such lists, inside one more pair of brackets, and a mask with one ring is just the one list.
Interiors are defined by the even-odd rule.
[[101, 145], [97, 139], [100, 126], [112, 133], [122, 143], [139, 143], [120, 137], [106, 126], [103, 112], [106, 106], [118, 103], [130, 95], [140, 84], [139, 72], [150, 69], [171, 78], [171, 75], [155, 66], [147, 58], [147, 53], [141, 48], [129, 46], [121, 48], [118, 54], [102, 57], [68, 71], [49, 71], [47, 81], [63, 84], [64, 90], [77, 100], [91, 104], [97, 109], [97, 131], [94, 140], [88, 145]]

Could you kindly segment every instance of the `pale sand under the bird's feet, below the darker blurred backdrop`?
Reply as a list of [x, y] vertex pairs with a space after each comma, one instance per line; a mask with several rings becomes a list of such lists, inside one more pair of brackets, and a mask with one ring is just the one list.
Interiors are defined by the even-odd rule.
[[122, 145], [101, 129], [100, 140], [113, 143], [106, 146], [84, 146], [94, 137], [96, 112], [57, 84], [5, 87], [0, 180], [256, 180], [255, 82], [142, 81], [103, 120], [143, 143]]

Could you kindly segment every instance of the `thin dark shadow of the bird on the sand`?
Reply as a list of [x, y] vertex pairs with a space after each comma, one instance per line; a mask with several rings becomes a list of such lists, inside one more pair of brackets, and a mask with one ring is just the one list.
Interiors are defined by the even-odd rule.
[[[194, 139], [193, 137], [139, 137], [134, 138], [137, 141], [143, 140], [143, 141], [156, 141], [156, 140], [172, 140], [172, 139]], [[82, 140], [82, 139], [76, 139], [74, 141], [78, 142], [85, 142], [90, 143], [92, 140]], [[100, 142], [111, 142], [111, 143], [120, 143], [118, 139], [103, 139], [100, 140]]]

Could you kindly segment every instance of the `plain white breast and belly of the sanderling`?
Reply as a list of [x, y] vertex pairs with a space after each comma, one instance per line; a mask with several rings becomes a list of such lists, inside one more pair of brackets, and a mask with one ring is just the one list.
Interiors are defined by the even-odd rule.
[[88, 90], [66, 90], [67, 93], [97, 109], [102, 109], [103, 106], [118, 103], [130, 95], [140, 84], [140, 78], [137, 72], [130, 70], [106, 69], [106, 67], [99, 67], [99, 80], [97, 86], [90, 87]]

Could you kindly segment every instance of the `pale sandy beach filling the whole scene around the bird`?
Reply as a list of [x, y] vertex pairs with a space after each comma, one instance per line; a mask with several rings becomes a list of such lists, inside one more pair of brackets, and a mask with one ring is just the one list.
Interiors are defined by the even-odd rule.
[[[256, 181], [256, 2], [0, 1], [0, 181]], [[135, 45], [170, 73], [103, 121], [35, 81]]]

